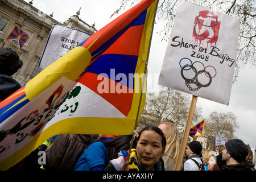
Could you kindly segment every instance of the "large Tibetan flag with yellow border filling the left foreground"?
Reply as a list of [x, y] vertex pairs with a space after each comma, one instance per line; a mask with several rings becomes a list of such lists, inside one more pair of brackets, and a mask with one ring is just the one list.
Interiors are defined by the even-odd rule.
[[142, 1], [0, 103], [0, 169], [57, 134], [133, 133], [156, 6]]

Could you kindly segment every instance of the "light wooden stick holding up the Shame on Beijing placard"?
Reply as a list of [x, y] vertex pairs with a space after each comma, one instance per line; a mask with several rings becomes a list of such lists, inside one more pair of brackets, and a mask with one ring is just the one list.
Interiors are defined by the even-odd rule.
[[179, 155], [177, 157], [174, 171], [180, 171], [181, 164], [183, 162], [183, 156], [184, 156], [185, 148], [186, 148], [187, 142], [188, 142], [189, 130], [191, 128], [193, 116], [194, 116], [195, 109], [196, 109], [196, 101], [197, 101], [197, 96], [192, 96], [191, 105], [189, 107], [189, 112], [188, 112], [188, 117], [187, 117], [187, 122], [185, 125], [183, 137], [181, 140]]

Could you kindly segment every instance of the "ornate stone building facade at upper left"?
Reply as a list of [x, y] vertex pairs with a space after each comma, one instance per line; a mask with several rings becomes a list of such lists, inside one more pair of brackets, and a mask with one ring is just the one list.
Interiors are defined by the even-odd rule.
[[[23, 67], [13, 77], [21, 85], [26, 84], [36, 76], [41, 68], [38, 67], [49, 32], [54, 24], [61, 24], [87, 32], [92, 35], [97, 30], [79, 18], [80, 10], [64, 23], [53, 19], [52, 14], [47, 15], [36, 9], [32, 1], [0, 0], [0, 47], [11, 48], [18, 52]], [[6, 41], [15, 24], [30, 35], [30, 38], [20, 49]]]

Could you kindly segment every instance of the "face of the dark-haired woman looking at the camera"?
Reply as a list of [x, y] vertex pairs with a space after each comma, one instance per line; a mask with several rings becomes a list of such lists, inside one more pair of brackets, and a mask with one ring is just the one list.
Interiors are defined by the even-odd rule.
[[145, 130], [141, 134], [137, 144], [137, 156], [139, 164], [150, 171], [156, 162], [163, 156], [165, 148], [162, 146], [162, 138], [155, 131]]

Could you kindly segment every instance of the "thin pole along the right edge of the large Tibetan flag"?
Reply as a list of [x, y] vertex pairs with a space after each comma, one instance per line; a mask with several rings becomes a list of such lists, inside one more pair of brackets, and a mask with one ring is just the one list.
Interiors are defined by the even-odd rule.
[[139, 120], [139, 109], [141, 108], [141, 101], [142, 101], [142, 95], [143, 95], [143, 90], [144, 90], [144, 84], [146, 81], [146, 75], [147, 75], [147, 65], [148, 65], [148, 57], [150, 55], [150, 47], [151, 47], [151, 40], [152, 40], [152, 35], [153, 35], [153, 31], [154, 31], [154, 24], [155, 24], [155, 16], [156, 16], [156, 11], [158, 9], [158, 0], [155, 0], [156, 2], [156, 9], [155, 9], [155, 14], [154, 14], [154, 18], [153, 18], [153, 24], [152, 24], [152, 29], [151, 29], [151, 33], [150, 33], [150, 42], [148, 43], [148, 51], [147, 51], [147, 60], [145, 62], [145, 69], [144, 69], [144, 75], [143, 75], [143, 81], [142, 81], [142, 88], [141, 88], [141, 96], [139, 98], [139, 106], [138, 106], [138, 110], [137, 110], [137, 116], [136, 116], [136, 120], [135, 120], [135, 124], [134, 124], [134, 129], [133, 129], [133, 137], [131, 138], [131, 144], [130, 144], [130, 150], [129, 150], [129, 154], [128, 154], [128, 160], [130, 158], [130, 151], [131, 151], [131, 147], [133, 146], [133, 142], [134, 142], [134, 136], [135, 136], [135, 131], [136, 128], [138, 126], [138, 120]]

